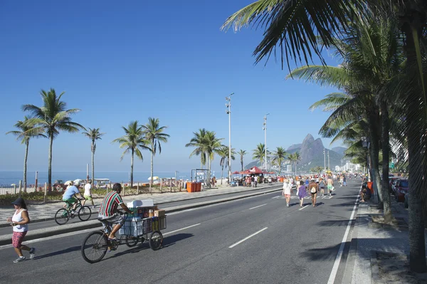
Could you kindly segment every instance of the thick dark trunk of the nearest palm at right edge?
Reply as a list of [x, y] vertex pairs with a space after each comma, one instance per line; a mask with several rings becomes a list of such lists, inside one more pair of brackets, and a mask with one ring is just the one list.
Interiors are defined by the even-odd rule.
[[[408, 3], [406, 3], [409, 5]], [[415, 15], [413, 15], [415, 14]], [[404, 19], [412, 19], [412, 25], [415, 29], [415, 32], [418, 33], [418, 37], [421, 38], [421, 21], [420, 15], [414, 13], [411, 9], [406, 11]], [[409, 18], [408, 18], [409, 17]], [[409, 23], [402, 26], [402, 30], [406, 36], [406, 57], [407, 57], [407, 75], [411, 76], [408, 78], [419, 78], [420, 74], [418, 72], [412, 72], [411, 68], [417, 66], [416, 58], [416, 47], [413, 42], [413, 30]], [[418, 80], [416, 80], [418, 82]], [[418, 83], [418, 85], [421, 85]], [[420, 90], [418, 88], [418, 90]], [[410, 103], [408, 103], [407, 108], [407, 117], [408, 117], [408, 156], [409, 156], [409, 266], [412, 271], [417, 273], [423, 273], [426, 271], [426, 243], [425, 243], [425, 233], [424, 233], [424, 220], [423, 220], [423, 204], [419, 196], [416, 194], [415, 186], [416, 177], [420, 176], [420, 171], [423, 171], [420, 167], [418, 159], [420, 158], [421, 153], [417, 151], [419, 149], [419, 142], [421, 140], [421, 131], [417, 127], [417, 121], [414, 117], [417, 117], [416, 112], [418, 112], [419, 107], [419, 96], [420, 93], [411, 93]], [[427, 103], [424, 101], [424, 103]], [[424, 130], [425, 131], [425, 130]], [[417, 159], [418, 158], [418, 159]]]

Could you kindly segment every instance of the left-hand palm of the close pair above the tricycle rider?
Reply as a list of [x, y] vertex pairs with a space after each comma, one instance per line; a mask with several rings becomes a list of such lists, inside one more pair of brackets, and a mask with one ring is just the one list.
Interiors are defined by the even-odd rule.
[[136, 155], [141, 161], [143, 161], [141, 149], [147, 149], [151, 151], [147, 144], [149, 141], [144, 139], [144, 130], [141, 125], [138, 125], [138, 121], [132, 121], [126, 127], [122, 126], [122, 129], [125, 130], [125, 135], [119, 137], [115, 140], [112, 140], [112, 143], [120, 143], [120, 148], [125, 148], [125, 151], [120, 157], [122, 161], [126, 153], [130, 152], [130, 186], [133, 186], [133, 164], [134, 164], [134, 155]]

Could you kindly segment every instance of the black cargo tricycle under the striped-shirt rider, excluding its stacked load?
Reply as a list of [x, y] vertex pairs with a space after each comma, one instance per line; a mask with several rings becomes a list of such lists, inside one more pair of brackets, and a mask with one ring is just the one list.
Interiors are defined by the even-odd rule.
[[[125, 219], [129, 221], [130, 219], [127, 218], [127, 216], [129, 215], [125, 214]], [[143, 243], [147, 239], [149, 240], [149, 247], [153, 251], [157, 251], [162, 246], [163, 235], [162, 232], [159, 230], [153, 230], [153, 228], [160, 228], [159, 223], [162, 223], [162, 228], [166, 228], [166, 216], [161, 218], [162, 221], [159, 219], [157, 220], [157, 225], [152, 222], [152, 219], [142, 219], [142, 221], [140, 221], [142, 222], [141, 234], [137, 236], [121, 235], [117, 241], [108, 238], [112, 231], [112, 222], [98, 219], [104, 228], [102, 230], [89, 233], [88, 236], [85, 237], [81, 247], [83, 259], [88, 263], [97, 263], [104, 258], [107, 251], [115, 251], [121, 244], [125, 243], [126, 246], [132, 248], [136, 246], [139, 241]], [[149, 233], [151, 234], [149, 235]]]

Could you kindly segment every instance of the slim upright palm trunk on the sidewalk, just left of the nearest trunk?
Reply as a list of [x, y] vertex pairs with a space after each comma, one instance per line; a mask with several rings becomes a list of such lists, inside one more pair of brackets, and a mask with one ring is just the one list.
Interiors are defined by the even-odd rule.
[[384, 201], [384, 221], [390, 222], [391, 216], [391, 203], [389, 191], [389, 108], [386, 100], [381, 101], [381, 123], [382, 123], [382, 196]]

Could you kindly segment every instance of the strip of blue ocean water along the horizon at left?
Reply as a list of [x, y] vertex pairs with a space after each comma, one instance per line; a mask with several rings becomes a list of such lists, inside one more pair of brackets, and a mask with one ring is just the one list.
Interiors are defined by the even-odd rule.
[[[90, 176], [90, 173], [89, 173]], [[151, 176], [149, 172], [134, 172], [134, 182], [148, 182]], [[175, 177], [175, 172], [154, 172], [154, 177], [170, 178]], [[177, 172], [178, 179], [191, 179], [191, 172]], [[111, 182], [129, 182], [130, 175], [128, 172], [95, 172], [97, 179], [110, 179]], [[86, 179], [86, 172], [52, 172], [52, 182], [56, 179], [62, 179], [63, 182], [75, 179]], [[0, 171], [0, 187], [11, 187], [11, 184], [19, 184], [23, 180], [23, 172], [1, 172]], [[27, 172], [27, 184], [36, 182], [36, 172]], [[38, 172], [38, 186], [42, 186], [48, 182], [48, 172]]]

